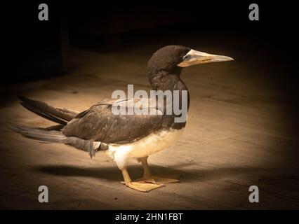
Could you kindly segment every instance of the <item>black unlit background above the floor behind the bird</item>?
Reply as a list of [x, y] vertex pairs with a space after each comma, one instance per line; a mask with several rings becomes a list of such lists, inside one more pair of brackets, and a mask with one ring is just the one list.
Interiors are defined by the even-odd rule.
[[[48, 4], [48, 21], [38, 20], [39, 3]], [[260, 21], [248, 20], [250, 3], [258, 3]], [[7, 66], [1, 85], [67, 71], [62, 66], [62, 38], [68, 40], [64, 44], [70, 47], [109, 51], [173, 36], [206, 34], [215, 36], [211, 40], [215, 43], [218, 38], [236, 38], [258, 45], [260, 51], [290, 69], [284, 78], [298, 83], [291, 68], [297, 60], [294, 53], [298, 38], [296, 10], [291, 1], [13, 1], [1, 4], [1, 35], [6, 49], [4, 66]]]

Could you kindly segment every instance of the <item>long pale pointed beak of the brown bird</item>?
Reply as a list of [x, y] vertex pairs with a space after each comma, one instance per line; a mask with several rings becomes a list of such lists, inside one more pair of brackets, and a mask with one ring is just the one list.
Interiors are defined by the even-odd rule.
[[187, 67], [194, 64], [204, 64], [210, 62], [225, 62], [232, 61], [232, 57], [227, 57], [223, 55], [211, 55], [205, 52], [200, 52], [197, 50], [190, 50], [187, 55], [183, 57], [183, 61], [178, 64], [180, 67]]

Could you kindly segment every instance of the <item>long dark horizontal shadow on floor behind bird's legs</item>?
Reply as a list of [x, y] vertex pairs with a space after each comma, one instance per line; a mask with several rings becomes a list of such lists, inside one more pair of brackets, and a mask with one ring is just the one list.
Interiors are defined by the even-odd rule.
[[[170, 167], [151, 166], [152, 174], [181, 174], [180, 181], [213, 181], [214, 179], [223, 179], [243, 175], [246, 172], [258, 172], [257, 167], [218, 167], [215, 169], [200, 169], [200, 167], [186, 170], [172, 169]], [[48, 165], [34, 167], [34, 171], [58, 176], [85, 176], [95, 179], [106, 179], [110, 181], [122, 181], [121, 172], [117, 167], [74, 167], [68, 165]], [[132, 179], [142, 176], [142, 167], [140, 165], [131, 165], [128, 172]]]

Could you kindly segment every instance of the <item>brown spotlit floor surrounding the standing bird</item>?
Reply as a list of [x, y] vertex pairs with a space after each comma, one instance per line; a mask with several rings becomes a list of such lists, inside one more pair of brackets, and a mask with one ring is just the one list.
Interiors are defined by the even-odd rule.
[[[285, 119], [290, 105], [279, 85], [260, 78], [272, 70], [245, 64], [241, 50], [200, 48], [237, 59], [182, 72], [191, 94], [185, 133], [149, 159], [154, 174], [182, 174], [180, 183], [140, 193], [120, 183], [121, 172], [104, 155], [91, 160], [83, 151], [8, 130], [7, 122], [53, 125], [23, 109], [16, 94], [82, 111], [127, 84], [150, 90], [146, 63], [155, 48], [72, 50], [68, 75], [1, 89], [6, 96], [0, 108], [1, 209], [299, 208], [298, 141]], [[133, 161], [129, 172], [138, 178], [142, 168]], [[41, 185], [49, 189], [47, 204], [37, 200]], [[253, 185], [260, 189], [260, 203], [248, 202]]]

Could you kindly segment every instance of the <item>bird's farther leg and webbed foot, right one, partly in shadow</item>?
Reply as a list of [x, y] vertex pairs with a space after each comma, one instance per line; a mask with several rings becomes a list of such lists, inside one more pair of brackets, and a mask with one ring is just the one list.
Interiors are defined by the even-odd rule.
[[138, 158], [140, 160], [142, 167], [144, 169], [144, 173], [142, 178], [137, 179], [136, 181], [140, 182], [146, 182], [146, 183], [155, 183], [155, 184], [160, 184], [160, 183], [177, 183], [180, 182], [179, 178], [180, 175], [178, 174], [173, 174], [173, 175], [152, 175], [150, 172], [150, 167], [147, 164], [147, 157], [144, 158]]

